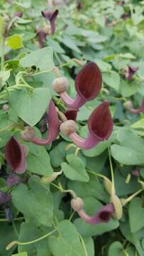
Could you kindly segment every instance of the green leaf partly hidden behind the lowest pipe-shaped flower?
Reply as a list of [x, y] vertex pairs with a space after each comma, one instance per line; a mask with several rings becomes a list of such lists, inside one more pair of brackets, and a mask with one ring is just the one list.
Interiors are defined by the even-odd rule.
[[[99, 201], [97, 201], [95, 198], [87, 197], [83, 199], [84, 199], [84, 210], [86, 210], [86, 212], [89, 215], [94, 215], [94, 213], [96, 213], [96, 211], [102, 207], [102, 204], [99, 203]], [[93, 236], [93, 235], [101, 235], [105, 232], [115, 230], [116, 228], [118, 228], [118, 221], [113, 220], [113, 218], [111, 218], [109, 223], [101, 223], [99, 225], [90, 225], [89, 223], [85, 223], [84, 220], [82, 220], [81, 218], [77, 218], [76, 220], [74, 220], [74, 225], [76, 226], [78, 232], [81, 235], [84, 235], [87, 237], [87, 236]]]

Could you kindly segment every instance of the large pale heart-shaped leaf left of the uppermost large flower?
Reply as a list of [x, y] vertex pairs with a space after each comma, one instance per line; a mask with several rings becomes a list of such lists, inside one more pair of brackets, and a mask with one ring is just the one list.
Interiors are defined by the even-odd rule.
[[31, 95], [26, 89], [14, 90], [9, 95], [9, 105], [24, 122], [37, 124], [48, 108], [51, 95], [48, 88], [37, 88]]

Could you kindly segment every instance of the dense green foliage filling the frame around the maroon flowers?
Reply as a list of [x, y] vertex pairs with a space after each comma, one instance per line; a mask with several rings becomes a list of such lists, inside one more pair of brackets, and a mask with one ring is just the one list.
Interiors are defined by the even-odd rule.
[[[53, 35], [49, 21], [41, 15], [48, 9], [59, 10]], [[16, 16], [16, 11], [23, 16]], [[1, 256], [144, 255], [144, 114], [133, 114], [127, 107], [131, 100], [138, 109], [144, 95], [143, 11], [144, 1], [134, 0], [50, 1], [49, 6], [44, 0], [0, 1], [1, 34], [4, 26], [9, 26], [5, 47], [1, 37], [5, 63], [1, 58], [0, 189], [11, 193], [9, 215], [5, 216], [6, 205], [0, 206]], [[39, 50], [41, 29], [45, 40]], [[99, 66], [103, 84], [99, 95], [79, 109], [79, 134], [87, 135], [89, 115], [100, 102], [109, 100], [114, 122], [111, 137], [87, 151], [77, 149], [62, 134], [48, 146], [23, 142], [20, 132], [26, 124], [35, 126], [39, 137], [46, 136], [45, 129], [40, 131], [48, 99], [52, 97], [55, 105], [65, 110], [51, 87], [54, 65], [69, 80], [68, 92], [74, 97], [74, 78], [87, 61]], [[33, 104], [23, 89], [28, 85], [38, 92]], [[19, 175], [25, 183], [9, 188], [6, 179], [11, 168], [4, 151], [12, 135], [28, 147], [28, 156], [27, 171]], [[52, 183], [41, 182], [42, 176], [61, 169], [63, 173]], [[84, 209], [94, 215], [109, 203], [103, 178], [97, 174], [111, 179], [111, 172], [118, 198], [138, 193], [123, 206], [121, 220], [85, 223], [72, 210], [70, 193], [65, 190], [83, 198]], [[56, 233], [43, 240], [6, 251], [13, 240], [28, 242], [55, 229]]]

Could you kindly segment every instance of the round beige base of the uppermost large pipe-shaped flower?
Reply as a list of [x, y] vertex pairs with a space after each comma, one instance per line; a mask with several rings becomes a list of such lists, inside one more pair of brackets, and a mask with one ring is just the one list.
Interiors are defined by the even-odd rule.
[[52, 82], [53, 90], [57, 93], [65, 92], [68, 88], [68, 80], [67, 78], [56, 78]]

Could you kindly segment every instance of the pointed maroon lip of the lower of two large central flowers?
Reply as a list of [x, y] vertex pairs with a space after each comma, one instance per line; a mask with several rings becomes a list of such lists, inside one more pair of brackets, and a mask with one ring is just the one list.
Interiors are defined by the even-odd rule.
[[113, 130], [113, 119], [109, 111], [109, 102], [104, 101], [96, 107], [88, 120], [89, 131], [103, 141], [108, 139]]

